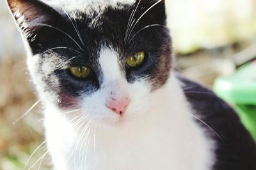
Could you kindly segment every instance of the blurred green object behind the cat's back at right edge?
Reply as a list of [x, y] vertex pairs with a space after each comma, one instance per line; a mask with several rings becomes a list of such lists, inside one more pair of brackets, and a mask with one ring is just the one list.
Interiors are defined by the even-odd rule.
[[213, 89], [234, 106], [256, 141], [256, 60], [239, 67], [231, 76], [218, 78]]

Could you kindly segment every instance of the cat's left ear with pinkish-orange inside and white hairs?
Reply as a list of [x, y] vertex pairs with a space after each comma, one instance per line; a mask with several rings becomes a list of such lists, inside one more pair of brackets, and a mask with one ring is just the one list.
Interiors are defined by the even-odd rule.
[[51, 25], [60, 13], [39, 0], [7, 0], [12, 15], [28, 41], [44, 25]]

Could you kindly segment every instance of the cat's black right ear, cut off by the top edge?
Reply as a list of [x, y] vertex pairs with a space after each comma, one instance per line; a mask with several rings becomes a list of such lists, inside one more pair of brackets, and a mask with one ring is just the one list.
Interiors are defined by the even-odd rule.
[[166, 24], [166, 8], [164, 0], [137, 0], [140, 1], [145, 17], [154, 24]]

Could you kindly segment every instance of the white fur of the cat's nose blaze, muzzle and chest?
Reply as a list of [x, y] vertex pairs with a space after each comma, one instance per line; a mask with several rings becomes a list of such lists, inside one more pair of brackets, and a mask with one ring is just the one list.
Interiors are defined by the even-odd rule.
[[[100, 53], [104, 85], [84, 97], [83, 110], [73, 115], [87, 118], [80, 129], [72, 127], [63, 111], [45, 104], [47, 143], [56, 170], [211, 169], [214, 141], [191, 117], [175, 76], [150, 92], [146, 81], [129, 84], [124, 80], [116, 55], [110, 49]], [[116, 88], [107, 84], [116, 80], [131, 97], [123, 118], [105, 106], [109, 89]]]

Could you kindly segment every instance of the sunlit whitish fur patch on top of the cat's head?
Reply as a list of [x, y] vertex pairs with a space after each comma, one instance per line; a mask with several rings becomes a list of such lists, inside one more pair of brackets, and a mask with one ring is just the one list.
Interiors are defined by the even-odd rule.
[[[109, 9], [120, 11], [128, 11], [127, 8], [134, 6], [138, 0], [58, 0], [53, 1], [51, 6], [56, 10], [60, 10], [63, 16], [68, 15], [72, 20], [86, 22], [88, 27], [97, 27], [102, 23], [102, 17], [106, 15]], [[115, 13], [118, 16], [118, 12]], [[116, 17], [117, 17], [116, 16]], [[110, 16], [114, 17], [114, 16]]]

